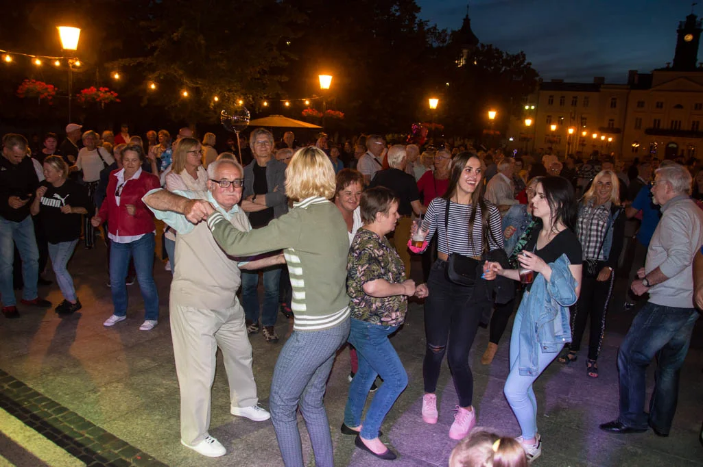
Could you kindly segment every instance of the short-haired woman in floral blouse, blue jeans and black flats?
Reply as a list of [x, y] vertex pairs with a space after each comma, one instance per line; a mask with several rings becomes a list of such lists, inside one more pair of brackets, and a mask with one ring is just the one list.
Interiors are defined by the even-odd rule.
[[[396, 458], [378, 438], [379, 428], [408, 385], [408, 375], [388, 336], [405, 321], [407, 297], [427, 296], [425, 284], [415, 287], [413, 280], [405, 279], [403, 262], [385, 237], [395, 229], [398, 218], [398, 199], [391, 190], [377, 187], [363, 192], [363, 227], [354, 237], [347, 263], [347, 293], [352, 298], [349, 343], [359, 355], [359, 371], [349, 386], [342, 433], [358, 433], [356, 446], [381, 459]], [[362, 424], [363, 407], [377, 375], [383, 385]]]

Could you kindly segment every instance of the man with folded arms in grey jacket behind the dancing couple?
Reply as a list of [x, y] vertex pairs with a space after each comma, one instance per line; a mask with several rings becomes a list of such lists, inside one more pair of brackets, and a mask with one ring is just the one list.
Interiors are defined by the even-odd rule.
[[[285, 196], [284, 162], [273, 157], [273, 135], [270, 131], [257, 128], [249, 137], [254, 160], [244, 168], [244, 193], [242, 209], [252, 228], [269, 225], [273, 219], [288, 212], [288, 198]], [[242, 273], [242, 305], [247, 320], [249, 334], [259, 332], [259, 314], [266, 342], [277, 343], [276, 317], [278, 317], [278, 284], [280, 266], [264, 270], [264, 306], [259, 310], [259, 272]]]

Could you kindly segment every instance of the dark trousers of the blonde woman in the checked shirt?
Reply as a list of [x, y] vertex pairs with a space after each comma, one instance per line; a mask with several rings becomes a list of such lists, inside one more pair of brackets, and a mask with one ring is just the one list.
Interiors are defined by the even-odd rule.
[[576, 305], [572, 306], [572, 343], [569, 350], [578, 352], [581, 349], [581, 338], [586, 330], [588, 316], [591, 316], [591, 328], [588, 336], [588, 359], [598, 360], [600, 346], [605, 334], [605, 318], [613, 291], [615, 271], [610, 273], [610, 279], [598, 282], [595, 277], [581, 279], [581, 294]]

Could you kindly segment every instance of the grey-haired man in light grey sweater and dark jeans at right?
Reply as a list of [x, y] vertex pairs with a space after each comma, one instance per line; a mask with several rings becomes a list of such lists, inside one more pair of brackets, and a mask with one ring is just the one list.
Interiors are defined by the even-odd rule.
[[[619, 416], [600, 428], [638, 433], [647, 425], [669, 436], [676, 412], [679, 371], [699, 313], [693, 303], [692, 263], [703, 244], [703, 211], [689, 197], [691, 175], [678, 164], [657, 170], [652, 199], [662, 218], [647, 248], [645, 267], [632, 282], [636, 295], [650, 298], [633, 320], [618, 354]], [[657, 357], [650, 413], [644, 412], [647, 367]]]

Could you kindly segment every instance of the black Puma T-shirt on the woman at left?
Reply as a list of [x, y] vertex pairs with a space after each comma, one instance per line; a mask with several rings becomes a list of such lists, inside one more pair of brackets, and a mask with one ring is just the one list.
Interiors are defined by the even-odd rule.
[[66, 180], [55, 188], [46, 180], [41, 182], [46, 187], [44, 196], [39, 200], [39, 218], [44, 228], [46, 241], [49, 243], [72, 242], [81, 235], [81, 214], [64, 214], [61, 207], [85, 208], [87, 216], [93, 213], [93, 204], [88, 198], [88, 189], [73, 180]]

